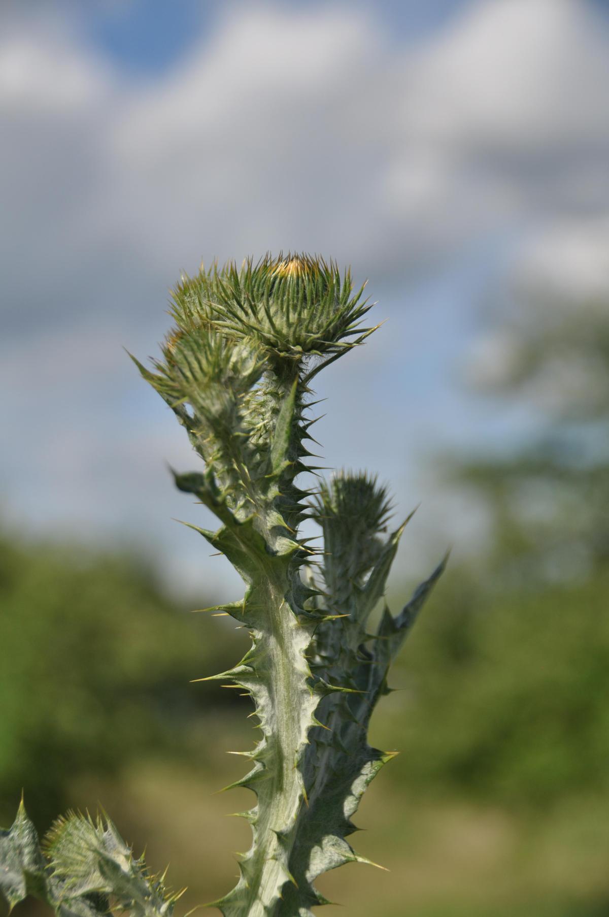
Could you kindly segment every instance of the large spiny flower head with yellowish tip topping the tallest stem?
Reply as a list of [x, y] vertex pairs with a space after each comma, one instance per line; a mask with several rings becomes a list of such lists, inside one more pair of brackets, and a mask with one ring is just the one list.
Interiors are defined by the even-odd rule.
[[371, 308], [361, 298], [364, 285], [353, 293], [349, 269], [341, 274], [333, 260], [266, 255], [184, 279], [173, 293], [172, 315], [183, 330], [211, 323], [227, 337], [257, 342], [271, 356], [339, 354], [373, 330], [360, 327]]

